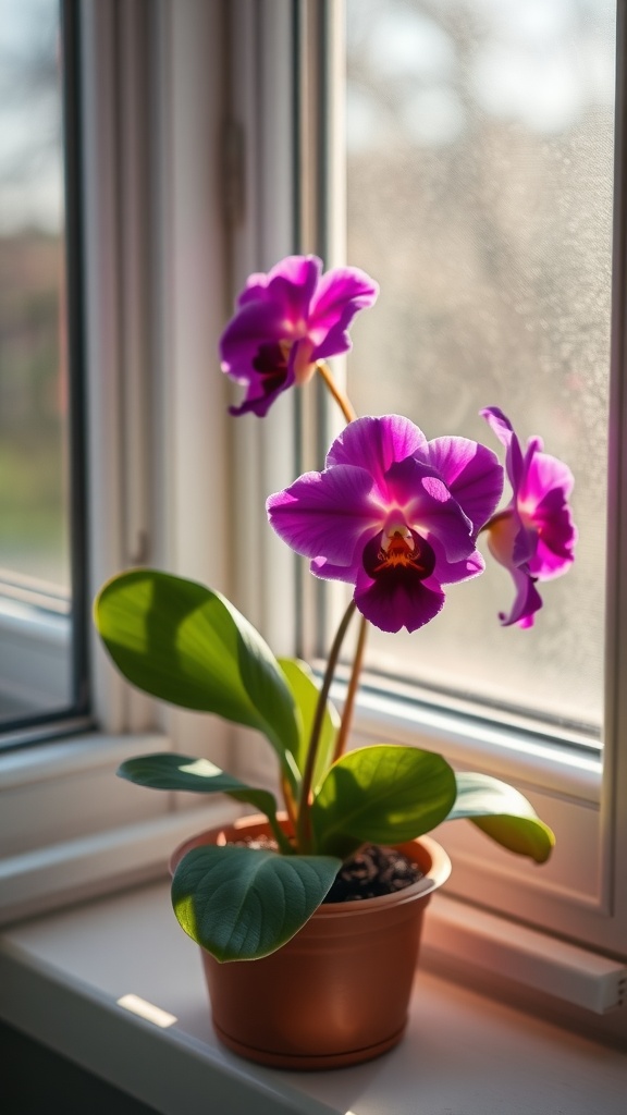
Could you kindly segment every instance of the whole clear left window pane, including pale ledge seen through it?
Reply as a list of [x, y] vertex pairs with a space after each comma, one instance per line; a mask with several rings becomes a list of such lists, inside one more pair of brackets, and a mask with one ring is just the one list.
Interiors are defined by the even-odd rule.
[[73, 699], [61, 31], [0, 0], [0, 725]]

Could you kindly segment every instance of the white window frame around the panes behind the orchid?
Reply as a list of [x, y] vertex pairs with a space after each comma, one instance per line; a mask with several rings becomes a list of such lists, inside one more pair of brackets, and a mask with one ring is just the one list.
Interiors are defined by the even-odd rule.
[[[340, 91], [341, 43], [332, 18], [340, 7], [322, 0], [83, 0], [80, 6], [90, 592], [128, 565], [156, 564], [225, 591], [277, 653], [296, 649], [302, 564], [271, 534], [263, 506], [269, 492], [295, 475], [297, 405], [308, 408], [300, 452], [319, 466], [317, 447], [309, 444], [314, 395], [283, 396], [263, 421], [233, 421], [215, 353], [233, 292], [250, 271], [268, 269], [295, 248], [325, 250], [328, 264], [341, 259], [339, 126], [331, 137], [335, 156], [311, 156], [321, 154], [315, 110], [320, 75], [329, 83], [330, 100]], [[308, 128], [298, 149], [295, 49], [307, 72], [298, 106]], [[158, 96], [146, 97], [147, 86]], [[619, 99], [624, 117], [623, 79]], [[340, 125], [340, 116], [334, 118]], [[154, 139], [149, 148], [146, 129]], [[618, 163], [624, 158], [619, 137]], [[301, 201], [300, 210], [291, 195], [293, 169], [310, 185], [309, 203]], [[322, 187], [340, 200], [327, 213], [336, 224], [322, 230], [324, 236]], [[617, 261], [624, 261], [621, 213], [617, 221]], [[624, 262], [616, 270], [621, 306]], [[627, 426], [623, 338], [620, 322], [611, 404], [617, 476], [624, 475], [620, 432]], [[546, 739], [498, 727], [473, 733], [445, 710], [425, 714], [393, 694], [386, 700], [360, 699], [355, 741], [412, 741], [442, 750], [461, 766], [517, 780], [547, 820], [557, 818], [563, 854], [554, 867], [528, 869], [457, 822], [441, 834], [454, 861], [448, 893], [498, 911], [504, 940], [511, 918], [624, 958], [627, 880], [618, 851], [627, 845], [627, 694], [618, 679], [627, 651], [620, 584], [627, 516], [619, 484], [611, 486], [610, 500], [616, 527], [608, 600], [617, 607], [608, 608], [602, 779], [594, 762], [569, 763]], [[303, 630], [312, 612], [306, 597]], [[241, 775], [272, 777], [261, 743], [216, 719], [166, 710], [132, 692], [95, 636], [91, 655], [100, 733], [0, 756], [0, 809], [9, 817], [3, 820], [8, 853], [0, 862], [0, 883], [8, 884], [0, 886], [4, 920], [161, 874], [179, 835], [232, 811], [230, 804], [199, 808], [180, 795], [144, 794], [113, 776], [120, 758], [171, 747], [208, 754], [233, 769], [226, 756], [234, 755]], [[437, 917], [434, 903], [435, 927]], [[447, 940], [447, 947], [457, 947], [451, 934]], [[623, 1014], [615, 1029], [627, 1031]]]

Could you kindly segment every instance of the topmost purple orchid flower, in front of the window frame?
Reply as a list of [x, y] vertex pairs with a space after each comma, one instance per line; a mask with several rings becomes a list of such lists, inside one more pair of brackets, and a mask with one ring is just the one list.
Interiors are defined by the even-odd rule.
[[321, 271], [316, 255], [288, 255], [268, 274], [250, 275], [220, 341], [222, 371], [247, 388], [232, 415], [263, 417], [281, 391], [311, 378], [318, 360], [349, 350], [348, 327], [378, 285], [357, 268]]

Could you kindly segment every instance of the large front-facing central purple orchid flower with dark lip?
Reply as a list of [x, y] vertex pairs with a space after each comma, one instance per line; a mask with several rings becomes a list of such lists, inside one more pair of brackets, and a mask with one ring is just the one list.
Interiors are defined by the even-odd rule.
[[408, 418], [358, 418], [326, 468], [267, 503], [270, 523], [318, 576], [355, 585], [357, 608], [383, 631], [428, 623], [443, 584], [483, 572], [479, 530], [501, 497], [503, 469], [485, 446], [427, 442]]

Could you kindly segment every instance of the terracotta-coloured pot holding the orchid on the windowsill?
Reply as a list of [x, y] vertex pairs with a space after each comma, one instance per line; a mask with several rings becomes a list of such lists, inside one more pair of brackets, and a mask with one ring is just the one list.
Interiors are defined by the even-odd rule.
[[[202, 844], [268, 834], [264, 817], [244, 817], [186, 841], [172, 870]], [[423, 914], [451, 862], [422, 836], [398, 847], [424, 879], [394, 894], [321, 905], [277, 952], [261, 960], [202, 960], [220, 1040], [279, 1068], [336, 1068], [378, 1057], [407, 1024]]]

